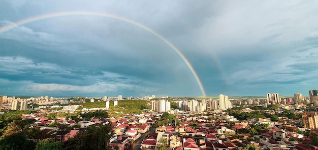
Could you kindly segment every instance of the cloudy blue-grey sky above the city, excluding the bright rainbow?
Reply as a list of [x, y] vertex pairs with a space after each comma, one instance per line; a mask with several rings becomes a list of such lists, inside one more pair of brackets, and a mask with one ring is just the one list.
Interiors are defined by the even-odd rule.
[[[317, 1], [0, 0], [0, 30], [91, 12], [142, 24], [174, 44], [207, 96], [318, 88]], [[31, 19], [30, 19], [31, 20]], [[0, 94], [200, 96], [184, 60], [132, 23], [61, 15], [0, 32]]]

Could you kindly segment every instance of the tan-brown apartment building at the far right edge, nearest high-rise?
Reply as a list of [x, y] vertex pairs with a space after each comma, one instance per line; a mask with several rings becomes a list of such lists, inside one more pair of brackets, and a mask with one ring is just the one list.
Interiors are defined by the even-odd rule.
[[318, 113], [304, 112], [302, 115], [304, 128], [317, 129], [318, 128]]

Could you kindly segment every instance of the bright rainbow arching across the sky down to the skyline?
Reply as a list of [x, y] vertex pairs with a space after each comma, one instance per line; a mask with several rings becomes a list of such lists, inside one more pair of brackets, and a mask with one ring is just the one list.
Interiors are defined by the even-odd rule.
[[27, 18], [24, 20], [20, 20], [17, 21], [15, 23], [9, 24], [7, 26], [4, 26], [2, 28], [0, 28], [0, 34], [6, 31], [9, 31], [11, 29], [14, 29], [18, 26], [21, 26], [23, 24], [27, 24], [27, 23], [31, 23], [31, 22], [35, 22], [35, 21], [39, 21], [39, 20], [44, 20], [44, 19], [49, 19], [49, 18], [56, 18], [56, 17], [64, 17], [64, 16], [99, 16], [99, 17], [107, 17], [107, 18], [113, 18], [113, 19], [117, 19], [120, 21], [124, 21], [130, 24], [133, 24], [135, 26], [138, 26], [150, 33], [152, 33], [153, 35], [155, 35], [156, 37], [158, 37], [159, 39], [161, 39], [162, 41], [164, 41], [167, 45], [169, 45], [173, 51], [175, 53], [177, 53], [177, 55], [182, 59], [182, 61], [186, 64], [186, 66], [188, 67], [188, 69], [191, 71], [191, 73], [193, 74], [193, 76], [195, 77], [200, 90], [202, 92], [202, 95], [204, 97], [206, 97], [206, 92], [204, 90], [204, 87], [202, 85], [202, 82], [197, 74], [197, 72], [195, 71], [195, 69], [193, 68], [193, 66], [190, 64], [190, 62], [185, 58], [185, 56], [180, 52], [180, 50], [173, 45], [170, 41], [168, 41], [165, 37], [163, 37], [162, 35], [158, 34], [157, 32], [153, 31], [152, 29], [150, 29], [149, 27], [140, 24], [136, 21], [121, 17], [121, 16], [117, 16], [117, 15], [113, 15], [113, 14], [108, 14], [108, 13], [97, 13], [97, 12], [59, 12], [59, 13], [51, 13], [51, 14], [45, 14], [45, 15], [40, 15], [40, 16], [36, 16], [36, 17], [31, 17], [31, 18]]

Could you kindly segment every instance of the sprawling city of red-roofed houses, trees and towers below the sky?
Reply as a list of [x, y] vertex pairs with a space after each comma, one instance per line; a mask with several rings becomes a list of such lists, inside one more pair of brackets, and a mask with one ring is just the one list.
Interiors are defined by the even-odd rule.
[[318, 150], [317, 91], [308, 97], [0, 95], [0, 149]]

